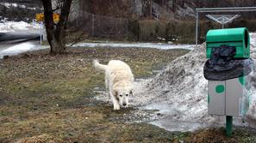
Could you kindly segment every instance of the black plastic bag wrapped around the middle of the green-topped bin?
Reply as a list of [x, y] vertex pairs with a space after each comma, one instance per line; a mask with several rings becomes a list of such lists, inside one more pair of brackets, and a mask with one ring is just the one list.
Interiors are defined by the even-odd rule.
[[234, 46], [212, 48], [211, 55], [203, 67], [203, 75], [207, 80], [234, 79], [250, 74], [253, 70], [251, 58], [234, 58]]

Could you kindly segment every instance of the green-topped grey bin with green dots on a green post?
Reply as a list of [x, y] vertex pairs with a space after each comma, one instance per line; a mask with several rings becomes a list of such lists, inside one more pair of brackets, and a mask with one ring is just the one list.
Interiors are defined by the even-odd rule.
[[[222, 48], [224, 51], [225, 48], [233, 50], [233, 55], [230, 58], [232, 58], [231, 60], [236, 60], [235, 62], [243, 63], [243, 61], [250, 60], [250, 36], [247, 28], [240, 27], [209, 30], [206, 35], [206, 57], [209, 61], [213, 57], [218, 58], [214, 55], [216, 54], [217, 48]], [[222, 56], [220, 56], [220, 58], [221, 57]], [[217, 59], [212, 60], [212, 62], [216, 60]], [[203, 70], [204, 77], [206, 77], [205, 69]], [[215, 67], [213, 67], [212, 71], [214, 70]], [[229, 71], [225, 72], [228, 73]], [[220, 71], [217, 71], [216, 73], [222, 74]], [[228, 136], [232, 133], [232, 116], [245, 116], [249, 108], [250, 83], [247, 81], [247, 75], [239, 75], [238, 77], [224, 80], [208, 79], [208, 113], [209, 115], [226, 116]]]

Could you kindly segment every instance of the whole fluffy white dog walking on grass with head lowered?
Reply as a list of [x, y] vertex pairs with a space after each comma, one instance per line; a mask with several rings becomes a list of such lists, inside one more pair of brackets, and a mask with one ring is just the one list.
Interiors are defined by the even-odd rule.
[[127, 63], [111, 60], [108, 65], [93, 61], [94, 67], [105, 72], [105, 86], [114, 104], [114, 110], [127, 107], [128, 97], [133, 94], [134, 74]]

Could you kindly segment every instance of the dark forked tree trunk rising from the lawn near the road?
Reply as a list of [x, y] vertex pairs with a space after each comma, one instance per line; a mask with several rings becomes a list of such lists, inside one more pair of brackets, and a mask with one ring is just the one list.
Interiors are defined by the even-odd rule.
[[51, 46], [50, 53], [60, 54], [66, 50], [65, 46], [65, 29], [70, 13], [72, 0], [60, 0], [60, 17], [59, 22], [53, 22], [53, 9], [52, 0], [41, 0], [44, 7], [45, 26], [47, 29], [47, 40]]

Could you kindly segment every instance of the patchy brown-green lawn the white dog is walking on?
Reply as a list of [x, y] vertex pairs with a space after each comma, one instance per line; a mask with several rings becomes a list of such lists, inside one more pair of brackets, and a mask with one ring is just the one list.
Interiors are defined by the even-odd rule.
[[[0, 61], [0, 142], [256, 142], [255, 130], [224, 128], [168, 132], [146, 122], [128, 122], [132, 107], [114, 111], [98, 101], [95, 87], [104, 88], [101, 63], [121, 59], [135, 78], [153, 76], [185, 50], [140, 48], [72, 48], [64, 55], [34, 51]], [[141, 116], [143, 117], [143, 116]]]

